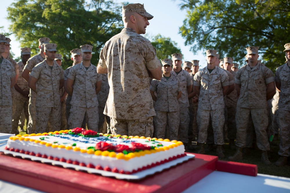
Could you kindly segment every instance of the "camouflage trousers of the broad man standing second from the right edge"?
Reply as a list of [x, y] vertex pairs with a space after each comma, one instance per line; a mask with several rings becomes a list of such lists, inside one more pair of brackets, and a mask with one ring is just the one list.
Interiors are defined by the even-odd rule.
[[236, 125], [237, 140], [236, 146], [239, 148], [246, 147], [247, 144], [247, 127], [249, 126], [250, 116], [253, 120], [255, 133], [257, 136], [257, 146], [260, 150], [270, 150], [270, 144], [267, 136], [268, 112], [267, 109], [249, 109], [237, 107]]

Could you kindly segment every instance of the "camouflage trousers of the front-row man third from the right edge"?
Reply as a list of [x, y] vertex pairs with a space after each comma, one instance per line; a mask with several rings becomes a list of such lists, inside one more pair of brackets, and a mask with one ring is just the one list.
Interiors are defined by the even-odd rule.
[[216, 145], [224, 144], [223, 125], [224, 125], [224, 109], [216, 110], [197, 110], [197, 126], [198, 126], [198, 143], [205, 143], [208, 138], [208, 129], [211, 121], [213, 139]]

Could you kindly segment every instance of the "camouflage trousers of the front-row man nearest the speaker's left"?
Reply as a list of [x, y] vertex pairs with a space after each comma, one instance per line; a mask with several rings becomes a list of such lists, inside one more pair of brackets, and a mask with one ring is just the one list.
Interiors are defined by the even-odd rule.
[[97, 106], [86, 108], [71, 105], [70, 117], [68, 118], [70, 129], [81, 127], [84, 121], [84, 116], [86, 116], [86, 124], [88, 129], [98, 132], [99, 110]]

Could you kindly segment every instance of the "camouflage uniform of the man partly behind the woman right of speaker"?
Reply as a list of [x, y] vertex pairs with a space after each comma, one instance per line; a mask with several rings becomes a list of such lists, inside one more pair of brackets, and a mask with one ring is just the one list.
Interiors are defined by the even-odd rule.
[[178, 140], [183, 143], [188, 143], [188, 126], [189, 126], [189, 100], [187, 94], [187, 87], [192, 85], [190, 74], [186, 70], [181, 70], [180, 73], [172, 69], [171, 76], [175, 76], [180, 81], [181, 97], [178, 99], [179, 104], [179, 128], [178, 128]]

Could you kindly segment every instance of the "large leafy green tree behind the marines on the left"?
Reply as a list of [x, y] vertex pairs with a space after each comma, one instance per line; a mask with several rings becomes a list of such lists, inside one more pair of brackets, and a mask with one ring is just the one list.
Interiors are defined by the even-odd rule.
[[[38, 39], [49, 37], [70, 66], [70, 50], [93, 46], [92, 64], [97, 65], [100, 49], [123, 28], [121, 7], [109, 0], [19, 0], [8, 7], [10, 32], [21, 47], [37, 54]], [[33, 55], [32, 54], [32, 55]]]

